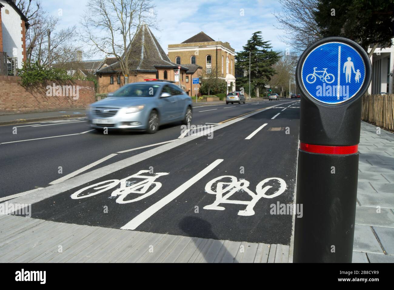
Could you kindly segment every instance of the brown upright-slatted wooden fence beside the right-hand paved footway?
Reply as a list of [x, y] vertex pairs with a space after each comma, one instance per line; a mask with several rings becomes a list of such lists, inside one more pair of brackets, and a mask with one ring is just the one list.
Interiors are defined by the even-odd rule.
[[361, 119], [394, 131], [394, 95], [364, 95]]

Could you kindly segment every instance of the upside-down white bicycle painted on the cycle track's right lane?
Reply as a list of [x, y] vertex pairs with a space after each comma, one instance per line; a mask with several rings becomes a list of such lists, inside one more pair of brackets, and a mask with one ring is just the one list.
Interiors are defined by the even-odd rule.
[[[229, 179], [230, 182], [217, 182], [221, 179]], [[271, 195], [266, 195], [266, 192], [268, 189], [270, 189], [272, 186], [271, 185], [266, 185], [264, 186], [265, 183], [267, 183], [270, 180], [277, 180], [279, 181], [279, 189], [271, 194]], [[217, 183], [216, 183], [217, 182]], [[216, 191], [212, 190], [212, 186], [216, 183]], [[264, 186], [264, 187], [263, 187]], [[241, 179], [238, 181], [238, 179], [235, 176], [231, 175], [225, 175], [225, 176], [219, 176], [218, 178], [215, 178], [211, 181], [209, 181], [205, 185], [205, 191], [207, 193], [216, 195], [216, 200], [207, 206], [204, 206], [204, 210], [225, 210], [223, 206], [219, 206], [219, 204], [227, 203], [227, 204], [245, 204], [246, 208], [245, 210], [240, 210], [238, 211], [238, 215], [244, 215], [244, 216], [249, 216], [249, 215], [254, 215], [255, 211], [253, 210], [254, 206], [260, 200], [260, 198], [274, 198], [276, 196], [281, 195], [285, 190], [286, 190], [286, 182], [281, 179], [281, 178], [266, 178], [258, 185], [256, 186], [256, 193], [251, 191], [249, 187], [249, 181]], [[245, 191], [249, 196], [252, 197], [252, 200], [247, 201], [247, 200], [229, 200], [228, 198], [234, 193], [237, 193], [239, 191]]]

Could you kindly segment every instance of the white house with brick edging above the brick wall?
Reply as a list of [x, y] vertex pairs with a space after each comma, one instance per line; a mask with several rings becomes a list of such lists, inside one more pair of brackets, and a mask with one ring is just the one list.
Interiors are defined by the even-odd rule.
[[[26, 30], [29, 23], [15, 0], [0, 0], [0, 24], [0, 52], [6, 53], [8, 59], [5, 61], [21, 68], [26, 60]], [[4, 57], [1, 62], [4, 64]]]

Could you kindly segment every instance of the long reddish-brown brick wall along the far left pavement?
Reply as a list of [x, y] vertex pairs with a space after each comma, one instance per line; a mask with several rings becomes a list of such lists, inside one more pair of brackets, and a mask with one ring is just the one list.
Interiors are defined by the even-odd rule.
[[[0, 114], [85, 109], [95, 102], [95, 86], [91, 81], [47, 81], [27, 88], [19, 82], [20, 77], [0, 76]], [[53, 86], [53, 83], [56, 86], [78, 86], [78, 99], [74, 99], [72, 95], [63, 95], [63, 91], [60, 95], [50, 96], [47, 86]], [[49, 93], [52, 94], [53, 91]]]

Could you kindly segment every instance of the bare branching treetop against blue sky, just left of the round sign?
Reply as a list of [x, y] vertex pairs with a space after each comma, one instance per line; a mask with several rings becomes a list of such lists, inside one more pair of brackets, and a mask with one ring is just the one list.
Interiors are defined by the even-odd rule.
[[313, 14], [318, 0], [279, 0], [279, 3], [282, 11], [274, 13], [280, 24], [277, 28], [286, 32], [286, 36], [279, 38], [292, 46], [294, 52], [299, 54], [322, 38]]

